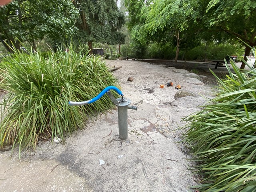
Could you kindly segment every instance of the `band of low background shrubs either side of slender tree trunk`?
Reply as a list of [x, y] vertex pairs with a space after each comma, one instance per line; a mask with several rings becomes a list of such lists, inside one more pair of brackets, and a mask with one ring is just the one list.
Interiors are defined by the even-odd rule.
[[[137, 47], [138, 46], [137, 44]], [[174, 59], [175, 47], [172, 43], [152, 43], [148, 46], [141, 46], [143, 50], [137, 50], [136, 44], [125, 44], [121, 46], [121, 52], [124, 56], [135, 58], [151, 58], [151, 59]], [[143, 53], [143, 54], [142, 54]], [[232, 44], [215, 44], [211, 43], [207, 46], [200, 45], [195, 48], [181, 51], [179, 58], [182, 59], [183, 54], [186, 60], [204, 60], [204, 59], [223, 59], [226, 56], [242, 55], [243, 50], [240, 46]]]

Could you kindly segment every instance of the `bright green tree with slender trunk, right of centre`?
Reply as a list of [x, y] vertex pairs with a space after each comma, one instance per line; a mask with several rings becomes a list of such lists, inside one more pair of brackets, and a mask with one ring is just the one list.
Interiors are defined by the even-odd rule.
[[175, 37], [176, 62], [180, 42], [188, 35], [188, 27], [194, 22], [193, 18], [195, 14], [190, 1], [153, 0], [145, 2], [141, 0], [127, 0], [127, 6], [132, 39], [144, 45], [150, 41], [173, 43], [173, 37]]

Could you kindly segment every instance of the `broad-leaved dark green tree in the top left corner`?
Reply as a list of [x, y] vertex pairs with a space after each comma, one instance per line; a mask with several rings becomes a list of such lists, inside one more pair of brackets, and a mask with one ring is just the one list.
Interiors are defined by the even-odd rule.
[[13, 0], [0, 7], [0, 41], [6, 50], [20, 48], [20, 42], [33, 44], [48, 34], [66, 38], [76, 32], [78, 10], [70, 0]]

